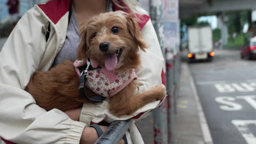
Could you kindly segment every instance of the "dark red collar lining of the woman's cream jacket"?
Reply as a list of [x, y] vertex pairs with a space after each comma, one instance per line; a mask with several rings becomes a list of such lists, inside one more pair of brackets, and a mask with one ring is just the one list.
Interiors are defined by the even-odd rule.
[[[63, 17], [69, 10], [72, 0], [52, 0], [45, 4], [38, 4], [38, 7], [42, 9], [42, 11], [45, 13], [46, 16], [49, 17], [51, 21], [56, 25], [57, 22]], [[120, 5], [122, 5], [124, 8], [121, 9], [117, 5], [113, 4], [114, 10], [123, 10], [126, 13], [131, 13], [131, 10], [127, 8], [127, 5], [123, 3], [123, 1], [120, 1]], [[150, 17], [148, 15], [140, 15], [136, 14], [138, 19], [138, 25], [139, 28], [142, 29]]]

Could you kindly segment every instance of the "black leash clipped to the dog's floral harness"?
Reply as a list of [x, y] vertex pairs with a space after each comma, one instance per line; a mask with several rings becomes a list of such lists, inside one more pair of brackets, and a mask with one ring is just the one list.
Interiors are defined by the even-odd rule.
[[86, 65], [83, 65], [82, 67], [79, 67], [78, 69], [81, 73], [79, 91], [80, 91], [80, 94], [82, 95], [82, 97], [89, 99], [91, 101], [102, 101], [102, 100], [106, 99], [105, 97], [102, 97], [101, 95], [95, 95], [94, 97], [89, 98], [85, 92], [85, 83], [87, 81], [89, 71], [93, 69], [91, 67], [90, 61], [87, 59]]

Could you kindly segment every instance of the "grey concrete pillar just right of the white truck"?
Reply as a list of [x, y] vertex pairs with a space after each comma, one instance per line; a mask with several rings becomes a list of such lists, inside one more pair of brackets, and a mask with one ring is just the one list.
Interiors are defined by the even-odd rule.
[[218, 28], [220, 29], [221, 33], [221, 40], [222, 40], [222, 47], [225, 44], [228, 44], [228, 38], [229, 38], [229, 33], [228, 33], [228, 27], [226, 26], [226, 21], [228, 21], [228, 17], [226, 17], [223, 13], [218, 16]]

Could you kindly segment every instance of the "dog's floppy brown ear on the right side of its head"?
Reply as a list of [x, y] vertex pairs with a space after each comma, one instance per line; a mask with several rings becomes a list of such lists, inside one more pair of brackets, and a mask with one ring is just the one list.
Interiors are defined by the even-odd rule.
[[142, 39], [141, 31], [139, 31], [138, 22], [136, 21], [136, 16], [133, 14], [126, 15], [127, 20], [127, 30], [132, 35], [133, 39], [137, 43], [137, 45], [141, 48], [141, 50], [146, 51], [148, 48], [146, 42]]

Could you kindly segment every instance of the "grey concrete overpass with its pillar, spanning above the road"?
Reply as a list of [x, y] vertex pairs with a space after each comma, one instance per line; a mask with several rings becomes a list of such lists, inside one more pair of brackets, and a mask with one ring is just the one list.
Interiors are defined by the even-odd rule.
[[[225, 16], [230, 11], [256, 10], [255, 0], [179, 0], [179, 17], [189, 17], [195, 14], [218, 15], [218, 28], [221, 29], [222, 43], [228, 43], [228, 27]], [[256, 35], [256, 19], [252, 19], [253, 33]]]

